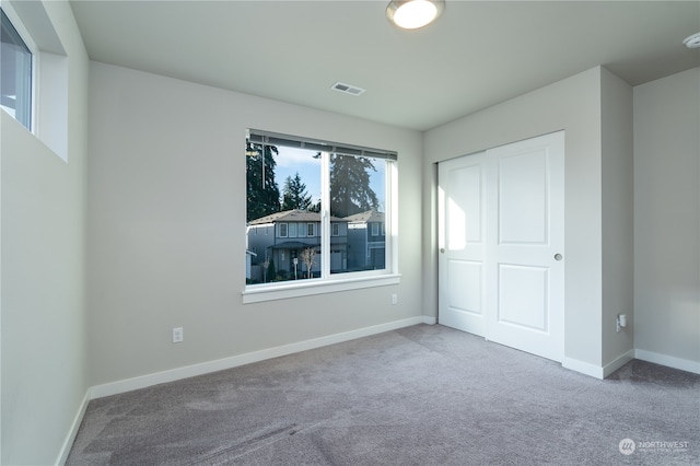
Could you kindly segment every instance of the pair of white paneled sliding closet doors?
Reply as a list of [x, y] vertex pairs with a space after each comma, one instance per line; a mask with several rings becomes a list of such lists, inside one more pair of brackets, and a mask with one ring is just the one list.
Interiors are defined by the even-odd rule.
[[439, 166], [441, 324], [563, 358], [563, 132]]

